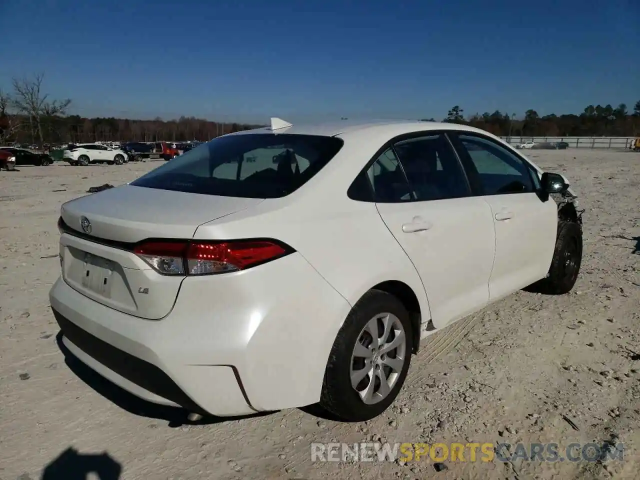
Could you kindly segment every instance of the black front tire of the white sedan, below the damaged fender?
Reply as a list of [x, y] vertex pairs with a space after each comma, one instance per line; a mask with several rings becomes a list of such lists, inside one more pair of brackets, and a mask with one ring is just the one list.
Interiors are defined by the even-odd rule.
[[582, 264], [582, 230], [574, 221], [563, 221], [558, 226], [556, 250], [547, 278], [543, 280], [552, 294], [570, 292], [578, 279]]

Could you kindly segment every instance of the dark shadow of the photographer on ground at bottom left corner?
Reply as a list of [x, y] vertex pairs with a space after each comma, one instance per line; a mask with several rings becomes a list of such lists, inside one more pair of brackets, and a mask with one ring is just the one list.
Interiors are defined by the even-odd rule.
[[122, 465], [107, 452], [86, 454], [69, 447], [44, 468], [40, 479], [85, 480], [88, 474], [95, 474], [100, 480], [118, 480]]

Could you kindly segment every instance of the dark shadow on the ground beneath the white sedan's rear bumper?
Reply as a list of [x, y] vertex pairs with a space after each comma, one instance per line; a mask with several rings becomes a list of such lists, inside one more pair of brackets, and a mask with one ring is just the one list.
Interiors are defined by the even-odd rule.
[[255, 415], [243, 415], [239, 417], [213, 417], [206, 416], [200, 420], [189, 420], [189, 412], [173, 406], [159, 405], [150, 403], [136, 397], [135, 395], [127, 392], [123, 388], [118, 387], [115, 383], [107, 380], [97, 372], [93, 371], [90, 367], [83, 364], [62, 342], [62, 332], [58, 332], [56, 335], [56, 343], [58, 348], [65, 356], [65, 364], [69, 369], [76, 374], [76, 376], [82, 380], [86, 385], [93, 388], [97, 393], [115, 403], [117, 406], [126, 410], [133, 415], [139, 417], [147, 417], [150, 419], [164, 420], [168, 422], [170, 428], [179, 428], [183, 425], [209, 425], [218, 424], [222, 422], [230, 422], [233, 420], [252, 419], [256, 417], [264, 417], [276, 412], [260, 412]]

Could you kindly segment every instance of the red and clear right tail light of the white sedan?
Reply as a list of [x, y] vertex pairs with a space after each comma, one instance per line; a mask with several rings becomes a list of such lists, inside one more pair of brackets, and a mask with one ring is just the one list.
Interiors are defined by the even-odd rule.
[[239, 271], [294, 250], [275, 240], [146, 241], [134, 253], [161, 275], [212, 275]]

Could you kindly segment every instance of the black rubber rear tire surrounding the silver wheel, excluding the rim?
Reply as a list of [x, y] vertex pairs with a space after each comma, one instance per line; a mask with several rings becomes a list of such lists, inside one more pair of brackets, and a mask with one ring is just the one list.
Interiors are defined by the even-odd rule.
[[[387, 396], [377, 403], [366, 404], [355, 388], [351, 387], [352, 354], [364, 326], [384, 313], [396, 316], [403, 326], [404, 363]], [[412, 325], [401, 301], [392, 294], [379, 290], [365, 293], [349, 312], [333, 343], [324, 371], [320, 406], [348, 422], [363, 422], [377, 417], [393, 403], [403, 386], [411, 362], [412, 345]]]

